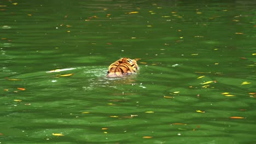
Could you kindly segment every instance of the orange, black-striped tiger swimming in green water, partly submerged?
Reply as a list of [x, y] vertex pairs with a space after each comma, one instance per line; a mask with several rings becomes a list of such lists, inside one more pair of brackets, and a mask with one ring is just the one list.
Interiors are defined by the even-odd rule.
[[120, 77], [129, 74], [136, 74], [138, 68], [137, 61], [139, 58], [120, 58], [118, 61], [110, 64], [108, 67], [107, 77]]

